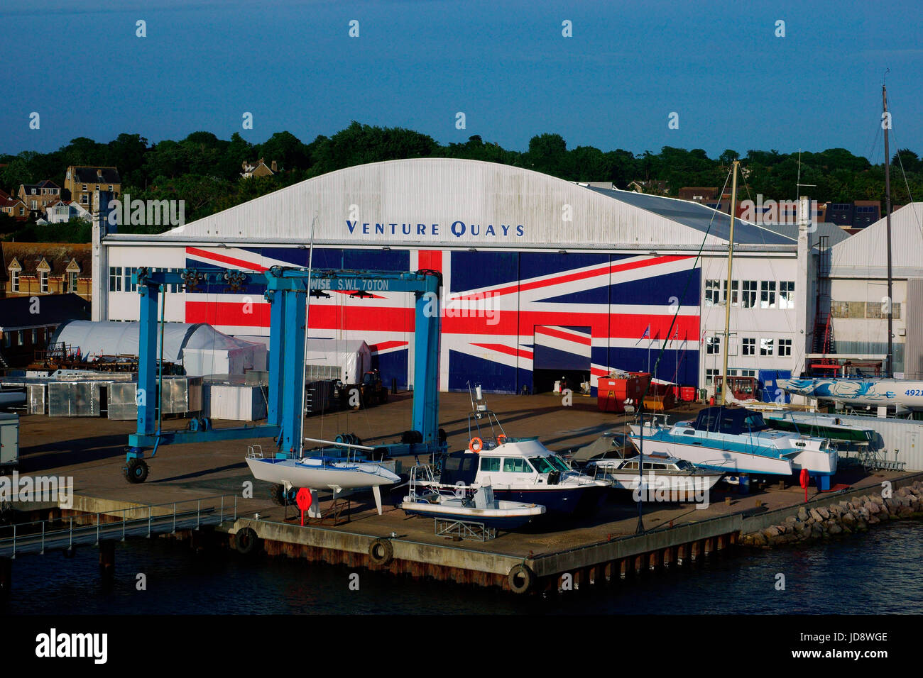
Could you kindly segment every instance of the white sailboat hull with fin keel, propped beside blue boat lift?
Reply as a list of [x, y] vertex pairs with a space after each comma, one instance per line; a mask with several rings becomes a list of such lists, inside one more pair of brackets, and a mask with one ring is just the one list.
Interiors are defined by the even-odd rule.
[[[336, 443], [333, 443], [337, 445]], [[342, 444], [341, 444], [342, 446]], [[346, 445], [347, 448], [372, 447]], [[309, 515], [318, 517], [317, 491], [332, 490], [334, 498], [349, 494], [353, 490], [371, 488], [375, 496], [378, 515], [381, 515], [381, 486], [401, 481], [397, 461], [373, 461], [361, 458], [357, 453], [344, 456], [311, 455], [301, 458], [264, 457], [259, 446], [250, 446], [246, 465], [258, 481], [272, 482], [282, 487], [284, 494], [293, 494], [298, 488], [311, 491], [312, 502]]]

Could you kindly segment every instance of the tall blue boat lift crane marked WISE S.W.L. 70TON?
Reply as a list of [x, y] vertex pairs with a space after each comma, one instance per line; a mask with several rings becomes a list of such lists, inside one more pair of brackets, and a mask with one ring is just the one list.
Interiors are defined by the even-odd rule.
[[[308, 294], [323, 291], [399, 291], [415, 296], [414, 325], [414, 408], [413, 430], [403, 434], [402, 442], [375, 446], [376, 453], [394, 456], [438, 454], [446, 449], [445, 434], [438, 430], [438, 290], [437, 271], [358, 271], [273, 267], [263, 273], [238, 270], [214, 271], [186, 268], [163, 271], [147, 267], [132, 274], [140, 295], [138, 337], [138, 430], [128, 436], [125, 477], [128, 482], [144, 482], [150, 457], [162, 445], [202, 443], [215, 440], [273, 437], [278, 443], [277, 458], [300, 458], [301, 423], [305, 398], [305, 339]], [[166, 285], [182, 284], [186, 291], [201, 285], [227, 286], [239, 292], [248, 286], [265, 286], [270, 302], [270, 381], [267, 423], [234, 428], [211, 428], [207, 418], [193, 419], [187, 430], [162, 431], [157, 412], [158, 361], [157, 303]], [[161, 362], [162, 364], [162, 362]], [[162, 376], [162, 375], [161, 375]], [[345, 436], [344, 436], [345, 437]], [[338, 439], [338, 442], [339, 439]], [[349, 442], [349, 441], [343, 441]], [[341, 448], [342, 452], [346, 447]], [[334, 448], [334, 454], [337, 448]], [[330, 450], [325, 451], [330, 454]]]

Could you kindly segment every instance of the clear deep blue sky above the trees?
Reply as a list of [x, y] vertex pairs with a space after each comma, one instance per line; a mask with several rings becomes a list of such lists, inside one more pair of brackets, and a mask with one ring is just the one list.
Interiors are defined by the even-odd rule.
[[[923, 111], [912, 103], [923, 89], [919, 0], [86, 5], [0, 5], [0, 152], [121, 132], [158, 141], [238, 131], [258, 143], [288, 130], [307, 142], [358, 120], [508, 149], [557, 132], [568, 148], [668, 145], [715, 157], [843, 147], [881, 161], [890, 67], [893, 148], [923, 153]], [[780, 19], [784, 38], [774, 35]], [[668, 129], [674, 112], [679, 128]]]

